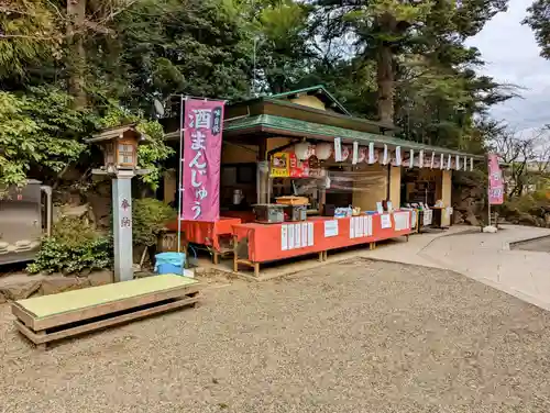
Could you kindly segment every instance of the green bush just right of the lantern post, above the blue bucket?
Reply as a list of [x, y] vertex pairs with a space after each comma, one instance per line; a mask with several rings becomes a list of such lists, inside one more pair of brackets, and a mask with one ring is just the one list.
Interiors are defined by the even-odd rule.
[[133, 242], [136, 245], [152, 246], [167, 222], [176, 217], [176, 211], [153, 198], [132, 201]]

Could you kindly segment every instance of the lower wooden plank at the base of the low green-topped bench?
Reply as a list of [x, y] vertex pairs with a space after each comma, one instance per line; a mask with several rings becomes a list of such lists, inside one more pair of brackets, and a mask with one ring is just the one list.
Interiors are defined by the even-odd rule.
[[154, 306], [151, 309], [139, 310], [139, 311], [135, 311], [135, 312], [132, 312], [129, 314], [118, 315], [118, 316], [114, 316], [111, 319], [101, 320], [101, 321], [97, 321], [94, 323], [62, 330], [62, 331], [58, 331], [55, 333], [45, 333], [44, 331], [33, 332], [31, 328], [26, 327], [23, 323], [21, 323], [18, 320], [14, 321], [14, 324], [15, 324], [15, 327], [24, 336], [26, 336], [31, 342], [33, 342], [35, 345], [42, 345], [45, 343], [58, 341], [62, 338], [72, 337], [75, 335], [84, 334], [87, 332], [92, 332], [92, 331], [109, 327], [112, 325], [122, 324], [122, 323], [125, 323], [129, 321], [143, 319], [143, 317], [146, 317], [148, 315], [153, 315], [153, 314], [157, 314], [157, 313], [162, 313], [162, 312], [167, 312], [167, 311], [175, 310], [175, 309], [178, 309], [182, 306], [191, 305], [191, 304], [196, 303], [198, 301], [198, 299], [199, 299], [198, 295], [189, 297], [187, 299], [174, 301], [174, 302], [162, 304], [162, 305]]

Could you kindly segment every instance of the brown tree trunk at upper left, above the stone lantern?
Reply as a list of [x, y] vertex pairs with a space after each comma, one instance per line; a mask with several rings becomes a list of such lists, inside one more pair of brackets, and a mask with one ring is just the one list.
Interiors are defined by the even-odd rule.
[[84, 46], [86, 0], [67, 0], [67, 40], [68, 40], [68, 90], [75, 98], [75, 108], [86, 107], [85, 76], [86, 49]]

